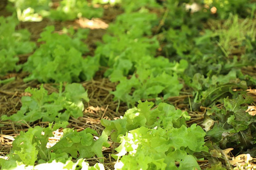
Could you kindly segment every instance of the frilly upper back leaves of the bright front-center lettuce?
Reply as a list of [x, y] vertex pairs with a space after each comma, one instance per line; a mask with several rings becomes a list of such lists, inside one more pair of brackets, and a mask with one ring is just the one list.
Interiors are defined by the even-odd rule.
[[158, 108], [151, 110], [154, 103], [139, 101], [138, 108], [134, 107], [125, 112], [125, 115], [118, 120], [101, 120], [105, 126], [105, 132], [111, 136], [112, 141], [119, 141], [119, 137], [127, 131], [137, 129], [141, 126], [154, 128], [180, 128], [189, 120], [187, 112], [176, 110], [175, 107], [166, 103], [160, 103]]

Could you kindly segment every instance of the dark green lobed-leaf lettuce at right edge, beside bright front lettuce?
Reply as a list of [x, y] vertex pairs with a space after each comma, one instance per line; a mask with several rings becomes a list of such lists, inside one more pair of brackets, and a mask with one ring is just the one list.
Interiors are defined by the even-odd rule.
[[[207, 135], [220, 148], [235, 148], [234, 154], [255, 147], [255, 119], [246, 113], [245, 104], [253, 102], [251, 97], [245, 99], [239, 95], [236, 99], [224, 99], [224, 108], [213, 107], [207, 114], [215, 121], [213, 129]], [[214, 113], [214, 114], [213, 114]]]

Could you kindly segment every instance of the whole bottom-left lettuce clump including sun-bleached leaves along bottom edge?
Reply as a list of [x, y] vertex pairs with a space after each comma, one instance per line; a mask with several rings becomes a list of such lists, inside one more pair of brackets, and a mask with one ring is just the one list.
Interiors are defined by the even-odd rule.
[[[94, 140], [93, 136], [98, 136], [95, 130], [88, 128], [77, 132], [76, 130], [65, 128], [67, 125], [68, 122], [63, 122], [55, 125], [49, 124], [48, 128], [35, 126], [35, 128], [28, 129], [26, 133], [21, 131], [13, 142], [9, 159], [0, 159], [1, 169], [15, 167], [45, 169], [53, 165], [57, 165], [58, 169], [60, 167], [63, 169], [76, 169], [77, 166], [80, 168], [104, 169], [102, 164], [89, 167], [89, 164], [84, 162], [83, 159], [78, 159], [76, 163], [73, 163], [71, 159], [78, 158], [77, 150], [79, 150], [79, 158], [91, 158], [94, 155], [102, 157], [102, 146], [109, 146], [107, 142], [108, 136], [102, 133], [100, 138]], [[63, 129], [63, 137], [56, 145], [47, 148], [48, 138], [52, 137], [52, 132], [59, 128], [65, 128]], [[35, 162], [38, 162], [39, 165], [34, 167]]]

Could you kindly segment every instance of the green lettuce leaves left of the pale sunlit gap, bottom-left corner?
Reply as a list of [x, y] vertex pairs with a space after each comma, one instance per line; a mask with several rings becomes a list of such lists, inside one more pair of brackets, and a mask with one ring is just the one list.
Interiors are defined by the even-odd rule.
[[9, 159], [1, 159], [2, 169], [12, 168], [15, 161], [23, 162], [25, 165], [34, 165], [38, 159], [48, 159], [49, 150], [47, 150], [46, 145], [48, 142], [48, 137], [52, 137], [52, 131], [59, 128], [65, 128], [68, 122], [63, 122], [61, 124], [49, 124], [48, 128], [41, 128], [36, 126], [35, 128], [30, 128], [26, 133], [20, 131], [14, 142], [13, 148], [11, 149]]

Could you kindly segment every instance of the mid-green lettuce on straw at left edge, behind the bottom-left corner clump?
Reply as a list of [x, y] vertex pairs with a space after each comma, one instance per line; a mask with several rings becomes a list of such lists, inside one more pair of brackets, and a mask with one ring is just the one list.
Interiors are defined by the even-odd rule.
[[84, 104], [82, 100], [89, 102], [87, 92], [81, 84], [72, 83], [65, 86], [65, 91], [62, 92], [60, 86], [59, 94], [53, 92], [48, 95], [48, 91], [28, 87], [25, 92], [31, 96], [23, 96], [22, 107], [16, 113], [7, 117], [3, 115], [2, 120], [34, 122], [42, 121], [68, 121], [70, 116], [75, 118], [82, 116]]

